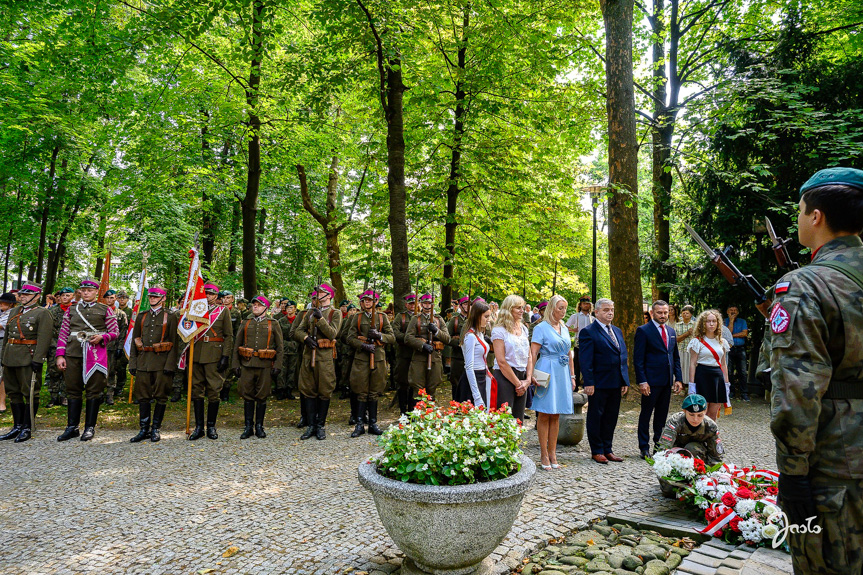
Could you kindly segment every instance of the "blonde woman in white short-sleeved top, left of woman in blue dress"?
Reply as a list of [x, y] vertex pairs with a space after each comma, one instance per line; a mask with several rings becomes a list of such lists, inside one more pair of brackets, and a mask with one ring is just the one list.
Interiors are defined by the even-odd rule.
[[[497, 407], [504, 403], [512, 408], [512, 414], [524, 421], [524, 406], [527, 401], [530, 335], [523, 318], [524, 300], [517, 295], [508, 295], [500, 306], [497, 321], [491, 330], [494, 346], [494, 378], [497, 380]], [[532, 370], [531, 370], [532, 371]]]

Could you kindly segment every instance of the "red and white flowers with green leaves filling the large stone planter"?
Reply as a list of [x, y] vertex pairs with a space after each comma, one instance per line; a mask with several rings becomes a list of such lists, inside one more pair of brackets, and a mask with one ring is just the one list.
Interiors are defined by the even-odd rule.
[[506, 404], [488, 412], [470, 401], [437, 406], [420, 391], [421, 401], [391, 425], [373, 458], [384, 477], [427, 485], [494, 481], [521, 469], [522, 427]]

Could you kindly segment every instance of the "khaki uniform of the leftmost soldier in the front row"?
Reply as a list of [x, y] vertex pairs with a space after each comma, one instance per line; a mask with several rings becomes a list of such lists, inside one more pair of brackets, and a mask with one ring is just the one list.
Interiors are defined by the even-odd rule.
[[[6, 336], [3, 338], [3, 383], [10, 403], [29, 403], [33, 368], [31, 363], [43, 364], [54, 332], [51, 313], [39, 306], [18, 306], [9, 312]], [[42, 369], [35, 373], [34, 399], [42, 389]]]

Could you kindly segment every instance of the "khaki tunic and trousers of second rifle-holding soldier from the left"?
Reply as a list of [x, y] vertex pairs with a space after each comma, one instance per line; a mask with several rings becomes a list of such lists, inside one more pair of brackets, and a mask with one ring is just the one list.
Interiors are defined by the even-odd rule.
[[[351, 367], [351, 391], [357, 395], [358, 401], [377, 401], [387, 387], [387, 358], [384, 346], [395, 343], [396, 337], [386, 314], [360, 312], [348, 318], [348, 343], [354, 349], [354, 362]], [[375, 343], [374, 353], [362, 349], [364, 343], [370, 343], [370, 329], [381, 333], [381, 341]], [[374, 357], [374, 368], [372, 367]]]

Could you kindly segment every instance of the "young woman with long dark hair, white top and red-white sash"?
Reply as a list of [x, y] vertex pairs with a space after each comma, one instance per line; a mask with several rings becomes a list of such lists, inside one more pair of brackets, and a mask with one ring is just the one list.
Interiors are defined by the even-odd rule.
[[[459, 380], [462, 397], [471, 397], [477, 407], [489, 409], [489, 398], [494, 397], [492, 377], [488, 372], [486, 357], [491, 348], [485, 339], [491, 310], [484, 301], [476, 300], [470, 308], [462, 336], [461, 349], [464, 353], [464, 374]], [[467, 389], [465, 389], [467, 387]], [[491, 406], [497, 407], [497, 406]]]

